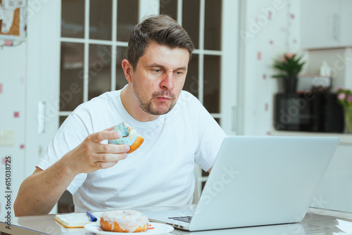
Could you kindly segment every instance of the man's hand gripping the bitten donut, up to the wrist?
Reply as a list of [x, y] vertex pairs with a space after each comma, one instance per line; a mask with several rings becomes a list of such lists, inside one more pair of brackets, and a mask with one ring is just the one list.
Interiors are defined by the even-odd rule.
[[127, 157], [130, 146], [101, 144], [105, 139], [120, 138], [119, 132], [111, 131], [113, 127], [90, 134], [86, 139], [69, 151], [63, 158], [69, 161], [68, 167], [74, 174], [90, 173], [99, 169], [113, 167], [119, 160]]

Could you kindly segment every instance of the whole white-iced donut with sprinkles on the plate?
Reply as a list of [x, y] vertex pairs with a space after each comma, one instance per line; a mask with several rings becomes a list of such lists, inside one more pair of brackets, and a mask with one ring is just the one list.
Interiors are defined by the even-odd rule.
[[101, 214], [100, 226], [104, 231], [139, 232], [149, 229], [149, 220], [137, 210], [112, 210]]

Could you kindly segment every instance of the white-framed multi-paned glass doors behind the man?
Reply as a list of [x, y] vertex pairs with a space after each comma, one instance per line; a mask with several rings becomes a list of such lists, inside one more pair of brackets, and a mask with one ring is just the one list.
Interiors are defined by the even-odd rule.
[[[238, 8], [239, 0], [62, 0], [60, 125], [80, 103], [127, 84], [121, 62], [130, 30], [164, 13], [196, 46], [184, 90], [236, 134]], [[208, 173], [196, 168], [196, 174], [200, 195]]]

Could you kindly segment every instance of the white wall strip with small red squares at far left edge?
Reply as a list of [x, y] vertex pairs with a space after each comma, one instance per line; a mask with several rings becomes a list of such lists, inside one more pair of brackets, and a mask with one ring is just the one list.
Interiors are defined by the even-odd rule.
[[[11, 157], [12, 205], [24, 176], [27, 44], [0, 49], [0, 216], [6, 215], [4, 158]], [[4, 143], [6, 141], [8, 143]], [[5, 145], [4, 145], [5, 144]], [[11, 205], [11, 208], [12, 208]], [[13, 212], [12, 212], [13, 215]], [[4, 217], [3, 217], [4, 218]]]

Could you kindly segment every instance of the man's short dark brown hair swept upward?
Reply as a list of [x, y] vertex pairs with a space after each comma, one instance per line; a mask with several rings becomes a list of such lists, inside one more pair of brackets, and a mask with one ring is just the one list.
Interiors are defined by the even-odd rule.
[[151, 42], [156, 42], [172, 49], [180, 48], [189, 51], [191, 60], [194, 44], [186, 30], [176, 20], [168, 15], [156, 15], [146, 18], [135, 25], [130, 33], [127, 47], [127, 61], [132, 64], [133, 70], [144, 51]]

